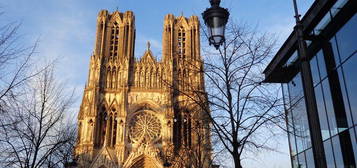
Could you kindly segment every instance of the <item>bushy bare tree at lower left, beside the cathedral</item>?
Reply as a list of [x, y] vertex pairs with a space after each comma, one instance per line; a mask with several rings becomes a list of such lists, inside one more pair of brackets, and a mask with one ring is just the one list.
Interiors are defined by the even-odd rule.
[[22, 87], [8, 102], [0, 120], [0, 167], [63, 167], [70, 160], [75, 126], [64, 115], [72, 104], [49, 67]]

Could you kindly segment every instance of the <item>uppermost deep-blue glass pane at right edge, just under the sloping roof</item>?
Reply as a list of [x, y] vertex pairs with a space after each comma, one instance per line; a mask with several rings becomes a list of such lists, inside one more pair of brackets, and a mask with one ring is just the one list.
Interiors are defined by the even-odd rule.
[[357, 15], [353, 16], [340, 31], [337, 32], [336, 39], [342, 62], [357, 50], [356, 30]]

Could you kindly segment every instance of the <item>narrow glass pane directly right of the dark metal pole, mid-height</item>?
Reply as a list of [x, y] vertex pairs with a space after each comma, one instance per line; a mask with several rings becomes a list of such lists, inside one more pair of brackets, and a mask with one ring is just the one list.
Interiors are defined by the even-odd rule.
[[330, 137], [330, 130], [328, 127], [328, 120], [327, 120], [327, 116], [326, 116], [326, 109], [325, 109], [324, 99], [322, 96], [321, 85], [318, 85], [315, 88], [315, 96], [316, 96], [317, 110], [319, 113], [322, 139], [325, 140]]

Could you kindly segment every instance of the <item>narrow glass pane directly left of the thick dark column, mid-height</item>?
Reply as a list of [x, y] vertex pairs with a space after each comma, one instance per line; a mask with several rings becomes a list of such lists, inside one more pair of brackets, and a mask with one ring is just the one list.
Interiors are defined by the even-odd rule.
[[337, 124], [336, 124], [336, 117], [332, 104], [332, 97], [330, 93], [330, 85], [327, 79], [322, 82], [322, 87], [323, 87], [323, 94], [325, 97], [324, 100], [325, 100], [327, 118], [330, 125], [330, 133], [331, 136], [333, 136], [337, 134]]

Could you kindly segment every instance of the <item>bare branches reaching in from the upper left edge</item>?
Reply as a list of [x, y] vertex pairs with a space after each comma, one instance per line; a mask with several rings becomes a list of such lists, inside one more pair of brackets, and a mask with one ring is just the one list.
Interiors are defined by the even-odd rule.
[[0, 25], [0, 112], [6, 110], [9, 101], [21, 95], [17, 88], [39, 73], [29, 71], [37, 42], [24, 47], [17, 33], [19, 27], [17, 22]]

